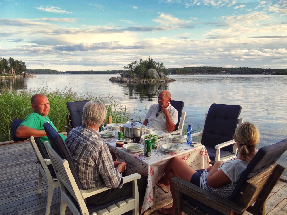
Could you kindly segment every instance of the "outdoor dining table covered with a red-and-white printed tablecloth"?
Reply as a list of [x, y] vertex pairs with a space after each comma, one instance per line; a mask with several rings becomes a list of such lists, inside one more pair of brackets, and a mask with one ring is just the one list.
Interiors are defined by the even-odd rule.
[[[210, 160], [205, 146], [203, 145], [192, 147], [189, 144], [186, 144], [186, 141], [184, 141], [181, 144], [183, 148], [181, 151], [167, 153], [160, 150], [160, 146], [164, 144], [163, 138], [161, 138], [158, 139], [158, 148], [151, 150], [150, 157], [145, 157], [144, 151], [132, 153], [126, 151], [122, 147], [116, 147], [117, 138], [115, 137], [102, 138], [102, 140], [107, 144], [109, 150], [116, 155], [118, 161], [126, 163], [125, 172], [127, 175], [139, 173], [140, 175], [148, 176], [148, 185], [146, 188], [141, 213], [153, 205], [153, 187], [163, 176], [165, 168], [169, 164], [171, 158], [178, 157], [188, 163], [188, 165], [195, 170], [203, 168], [205, 169], [210, 166]], [[141, 139], [140, 143], [144, 144], [144, 139]]]

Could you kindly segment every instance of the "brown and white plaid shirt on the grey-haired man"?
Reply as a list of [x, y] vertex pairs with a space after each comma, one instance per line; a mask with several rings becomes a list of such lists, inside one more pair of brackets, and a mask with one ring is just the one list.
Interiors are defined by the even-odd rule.
[[84, 189], [105, 184], [108, 188], [121, 188], [122, 174], [114, 167], [107, 145], [94, 129], [81, 125], [69, 132], [65, 143]]

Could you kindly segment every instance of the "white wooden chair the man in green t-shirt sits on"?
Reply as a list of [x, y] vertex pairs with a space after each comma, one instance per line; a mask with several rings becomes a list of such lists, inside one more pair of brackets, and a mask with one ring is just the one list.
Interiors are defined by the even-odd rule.
[[[12, 131], [12, 140], [13, 141], [24, 141], [24, 138], [16, 137], [15, 133], [19, 125], [22, 123], [20, 119], [15, 118], [11, 124], [11, 131]], [[39, 167], [39, 180], [38, 180], [38, 194], [41, 193], [41, 184], [44, 178], [48, 192], [47, 192], [47, 205], [46, 205], [46, 215], [50, 214], [50, 207], [53, 198], [54, 189], [60, 187], [58, 179], [56, 178], [56, 174], [52, 167], [50, 158], [46, 149], [44, 148], [43, 143], [41, 142], [39, 137], [34, 138], [31, 136], [29, 138], [32, 148], [35, 152], [37, 157], [37, 164]]]

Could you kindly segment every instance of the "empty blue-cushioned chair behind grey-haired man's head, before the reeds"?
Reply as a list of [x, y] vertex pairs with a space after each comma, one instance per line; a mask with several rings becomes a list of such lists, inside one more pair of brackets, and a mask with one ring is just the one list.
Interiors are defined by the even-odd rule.
[[76, 128], [82, 123], [82, 112], [85, 104], [90, 100], [84, 101], [75, 101], [75, 102], [67, 102], [67, 108], [70, 112], [70, 115], [66, 116], [67, 126], [65, 126], [67, 134], [73, 128]]

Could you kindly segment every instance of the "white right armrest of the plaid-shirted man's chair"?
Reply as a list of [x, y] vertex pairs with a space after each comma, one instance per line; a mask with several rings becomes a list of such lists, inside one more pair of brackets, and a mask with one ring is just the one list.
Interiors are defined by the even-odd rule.
[[[141, 178], [141, 175], [138, 174], [138, 173], [134, 173], [134, 174], [131, 174], [129, 176], [125, 176], [122, 179], [123, 179], [123, 182], [125, 184], [127, 182], [131, 182], [133, 180], [137, 180], [139, 178]], [[98, 193], [101, 193], [101, 192], [109, 190], [109, 189], [111, 189], [111, 188], [108, 188], [108, 187], [106, 187], [105, 184], [102, 184], [102, 185], [100, 185], [98, 187], [94, 187], [94, 188], [91, 188], [91, 189], [88, 189], [88, 190], [80, 190], [80, 193], [81, 193], [83, 199], [86, 199], [86, 198], [88, 198], [88, 197], [90, 197], [92, 195], [96, 195]]]

